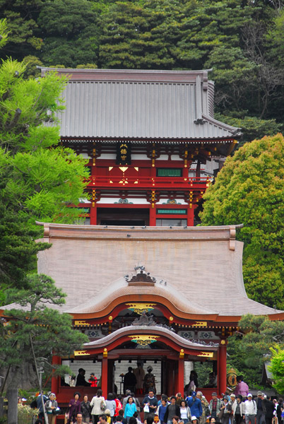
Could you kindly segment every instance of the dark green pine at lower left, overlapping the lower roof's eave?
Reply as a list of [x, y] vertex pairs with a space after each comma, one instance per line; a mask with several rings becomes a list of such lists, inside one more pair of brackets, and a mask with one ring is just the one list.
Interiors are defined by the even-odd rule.
[[88, 341], [85, 334], [72, 329], [69, 314], [47, 307], [63, 305], [65, 296], [44, 274], [28, 276], [25, 289], [7, 290], [7, 301], [17, 305], [4, 313], [8, 324], [0, 324], [0, 367], [9, 367], [13, 373], [8, 385], [8, 423], [16, 423], [20, 368], [36, 365], [37, 358], [50, 359], [52, 351], [61, 356], [73, 354]]

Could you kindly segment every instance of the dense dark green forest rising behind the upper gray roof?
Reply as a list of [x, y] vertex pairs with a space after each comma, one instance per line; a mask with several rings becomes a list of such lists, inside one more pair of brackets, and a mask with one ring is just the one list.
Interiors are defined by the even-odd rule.
[[215, 116], [241, 144], [283, 131], [280, 0], [0, 0], [1, 57], [39, 66], [212, 69]]

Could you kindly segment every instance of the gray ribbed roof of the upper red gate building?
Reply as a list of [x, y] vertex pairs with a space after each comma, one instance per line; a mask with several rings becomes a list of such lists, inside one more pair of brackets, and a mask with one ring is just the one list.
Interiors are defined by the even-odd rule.
[[213, 118], [208, 71], [57, 71], [70, 76], [66, 110], [58, 115], [62, 137], [233, 139], [239, 133]]

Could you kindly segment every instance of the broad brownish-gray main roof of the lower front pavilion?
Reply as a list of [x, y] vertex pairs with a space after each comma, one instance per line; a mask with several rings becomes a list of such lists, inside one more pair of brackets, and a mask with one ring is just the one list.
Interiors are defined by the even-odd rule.
[[[247, 298], [243, 244], [235, 240], [234, 225], [132, 229], [45, 224], [45, 235], [52, 247], [40, 252], [38, 271], [54, 278], [67, 293], [67, 312], [105, 310], [120, 295], [144, 292], [149, 299], [164, 293], [187, 314], [239, 317], [282, 312]], [[131, 287], [124, 281], [137, 264], [156, 278], [154, 287]]]

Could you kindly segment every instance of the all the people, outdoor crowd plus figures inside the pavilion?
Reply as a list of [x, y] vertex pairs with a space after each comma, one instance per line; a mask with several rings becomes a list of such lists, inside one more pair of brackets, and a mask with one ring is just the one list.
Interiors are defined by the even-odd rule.
[[[80, 392], [75, 391], [65, 414], [65, 424], [141, 424], [141, 418], [143, 424], [284, 424], [283, 399], [271, 399], [262, 391], [253, 399], [242, 376], [237, 376], [234, 392], [227, 390], [223, 396], [218, 397], [213, 391], [208, 401], [201, 391], [195, 390], [198, 385], [197, 375], [191, 372], [190, 382], [184, 388], [184, 397], [181, 393], [170, 397], [162, 394], [158, 400], [155, 396], [152, 367], [148, 367], [147, 374], [141, 370], [143, 368], [140, 364], [136, 370], [129, 367], [128, 375], [124, 378], [124, 397], [109, 393], [105, 398], [102, 396], [102, 389], [97, 389], [97, 393], [89, 401], [88, 395], [85, 394], [81, 400]], [[134, 391], [137, 377], [141, 377], [141, 391], [145, 391], [145, 382], [148, 382], [147, 394], [141, 402]], [[95, 387], [97, 378], [92, 374], [89, 382], [86, 382], [85, 370], [81, 368], [78, 370], [77, 383], [81, 384], [76, 385]], [[141, 391], [136, 393], [141, 394]], [[49, 397], [38, 396], [40, 420], [43, 418], [43, 404], [48, 423], [54, 424], [59, 410], [55, 394], [51, 393]]]

